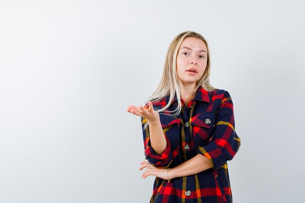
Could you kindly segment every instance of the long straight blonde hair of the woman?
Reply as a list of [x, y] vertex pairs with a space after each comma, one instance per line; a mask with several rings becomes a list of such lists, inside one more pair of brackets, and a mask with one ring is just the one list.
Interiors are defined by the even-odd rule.
[[[172, 40], [172, 43], [169, 46], [169, 49], [166, 54], [166, 59], [165, 59], [165, 64], [164, 64], [164, 70], [163, 70], [163, 75], [161, 78], [161, 81], [159, 82], [159, 85], [157, 89], [152, 93], [152, 95], [145, 101], [143, 106], [147, 106], [148, 102], [151, 101], [152, 104], [153, 102], [158, 102], [165, 98], [166, 96], [170, 95], [169, 102], [166, 104], [166, 106], [162, 109], [154, 109], [157, 112], [174, 112], [172, 116], [176, 116], [180, 113], [181, 111], [181, 103], [177, 102], [177, 109], [173, 111], [168, 111], [167, 109], [170, 107], [175, 93], [177, 95], [178, 101], [180, 101], [180, 88], [178, 84], [178, 74], [176, 71], [176, 58], [177, 54], [179, 51], [179, 47], [182, 44], [183, 40], [187, 37], [196, 37], [204, 41], [204, 43], [207, 46], [207, 51], [208, 51], [208, 58], [207, 58], [207, 67], [205, 69], [205, 72], [203, 73], [202, 77], [196, 82], [197, 83], [197, 88], [201, 86], [204, 90], [210, 92], [215, 90], [213, 86], [210, 85], [210, 50], [208, 46], [208, 42], [204, 37], [202, 37], [199, 33], [193, 32], [193, 31], [187, 31], [180, 33], [174, 39]], [[195, 92], [196, 92], [195, 91]], [[147, 127], [148, 122], [146, 122], [144, 129]]]

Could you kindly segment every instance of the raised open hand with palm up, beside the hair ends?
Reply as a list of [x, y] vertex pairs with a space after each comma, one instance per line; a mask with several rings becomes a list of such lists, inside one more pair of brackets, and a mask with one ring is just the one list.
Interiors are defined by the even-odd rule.
[[149, 123], [160, 122], [159, 113], [153, 110], [151, 101], [148, 102], [148, 109], [141, 105], [139, 107], [129, 105], [127, 107], [127, 111], [133, 113], [134, 115], [146, 118]]

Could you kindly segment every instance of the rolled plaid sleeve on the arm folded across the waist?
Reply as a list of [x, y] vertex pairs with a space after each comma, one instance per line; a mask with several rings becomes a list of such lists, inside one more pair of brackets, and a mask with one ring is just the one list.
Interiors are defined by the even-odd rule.
[[240, 138], [235, 132], [233, 102], [229, 92], [216, 113], [215, 126], [210, 141], [199, 146], [197, 154], [206, 156], [212, 168], [219, 169], [227, 161], [232, 160], [240, 147]]

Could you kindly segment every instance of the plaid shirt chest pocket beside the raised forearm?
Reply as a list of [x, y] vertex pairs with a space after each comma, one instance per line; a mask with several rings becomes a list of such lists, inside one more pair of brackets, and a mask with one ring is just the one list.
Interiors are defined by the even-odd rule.
[[172, 149], [177, 149], [179, 146], [181, 119], [170, 115], [160, 114], [160, 122], [165, 136], [172, 145]]

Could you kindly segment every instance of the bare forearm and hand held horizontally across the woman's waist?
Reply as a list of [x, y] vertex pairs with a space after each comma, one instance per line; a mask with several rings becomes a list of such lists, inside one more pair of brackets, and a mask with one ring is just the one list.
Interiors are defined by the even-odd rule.
[[165, 180], [171, 180], [172, 178], [184, 177], [199, 173], [209, 169], [212, 167], [212, 165], [207, 157], [197, 154], [190, 160], [183, 162], [174, 168], [156, 168], [147, 161], [141, 162], [139, 169], [142, 170], [145, 167], [148, 167], [148, 169], [143, 172], [142, 178], [146, 178], [149, 175], [154, 175]]

